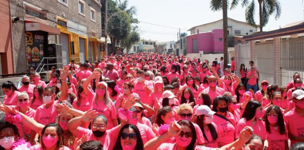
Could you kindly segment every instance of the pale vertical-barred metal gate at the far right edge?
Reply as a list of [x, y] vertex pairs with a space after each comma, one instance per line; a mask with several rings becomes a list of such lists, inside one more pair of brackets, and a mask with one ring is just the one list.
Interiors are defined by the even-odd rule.
[[281, 85], [292, 81], [293, 74], [298, 72], [304, 79], [304, 37], [282, 39], [281, 45]]

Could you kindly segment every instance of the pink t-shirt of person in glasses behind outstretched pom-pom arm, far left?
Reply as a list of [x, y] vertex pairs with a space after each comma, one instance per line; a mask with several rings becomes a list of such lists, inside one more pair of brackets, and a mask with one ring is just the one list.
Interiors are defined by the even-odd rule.
[[[20, 111], [19, 106], [16, 106], [15, 110]], [[24, 115], [28, 116], [29, 118], [34, 118], [35, 113], [36, 113], [36, 111], [34, 109], [28, 107], [28, 111]], [[29, 127], [27, 127], [26, 125], [23, 125], [21, 122], [17, 122], [17, 124], [15, 124], [15, 125], [18, 128], [20, 138], [23, 138], [23, 132], [26, 135], [30, 136], [31, 129]]]

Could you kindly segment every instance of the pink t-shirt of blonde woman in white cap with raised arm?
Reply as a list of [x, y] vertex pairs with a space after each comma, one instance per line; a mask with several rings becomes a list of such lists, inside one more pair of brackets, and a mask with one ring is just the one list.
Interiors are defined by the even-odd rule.
[[[88, 99], [90, 101], [95, 99], [96, 94], [93, 92], [89, 92]], [[91, 103], [91, 108], [93, 110], [96, 110], [98, 114], [104, 115], [108, 119], [108, 129], [114, 128], [114, 119], [117, 119], [116, 117], [116, 110], [115, 106], [112, 101], [109, 101], [109, 106], [105, 105], [104, 101], [99, 101], [96, 99], [95, 102]]]

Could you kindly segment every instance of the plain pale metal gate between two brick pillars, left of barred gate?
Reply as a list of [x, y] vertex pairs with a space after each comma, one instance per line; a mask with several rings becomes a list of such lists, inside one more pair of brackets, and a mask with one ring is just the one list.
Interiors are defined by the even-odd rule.
[[260, 82], [267, 80], [269, 84], [274, 83], [273, 73], [273, 42], [262, 42], [256, 44], [257, 62], [255, 65], [259, 68]]

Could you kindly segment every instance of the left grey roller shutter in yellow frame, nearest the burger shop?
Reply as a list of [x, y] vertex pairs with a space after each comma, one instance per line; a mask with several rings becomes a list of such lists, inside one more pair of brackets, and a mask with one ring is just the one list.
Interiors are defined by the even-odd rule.
[[60, 33], [59, 44], [61, 44], [62, 63], [63, 65], [67, 65], [70, 62], [69, 36], [67, 34]]

